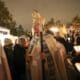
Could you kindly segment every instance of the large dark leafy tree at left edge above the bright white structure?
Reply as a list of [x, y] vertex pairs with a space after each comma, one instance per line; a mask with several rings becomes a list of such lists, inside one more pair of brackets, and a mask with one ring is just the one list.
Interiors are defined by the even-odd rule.
[[[0, 0], [0, 26], [10, 30], [15, 29], [16, 22], [13, 20], [12, 14], [8, 11], [5, 3]], [[11, 31], [12, 32], [12, 31]]]

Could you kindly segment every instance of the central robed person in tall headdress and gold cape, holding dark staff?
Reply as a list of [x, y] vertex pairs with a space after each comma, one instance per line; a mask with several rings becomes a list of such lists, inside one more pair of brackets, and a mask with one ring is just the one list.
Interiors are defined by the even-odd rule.
[[[68, 80], [65, 67], [66, 52], [62, 44], [57, 42], [52, 35], [43, 35], [43, 52], [41, 54], [40, 39], [40, 14], [35, 11], [37, 18], [34, 20], [34, 32], [27, 55], [30, 56], [30, 71], [32, 80], [42, 79], [42, 59], [45, 59], [45, 79], [46, 80]], [[40, 20], [39, 20], [40, 18]], [[36, 21], [37, 19], [37, 21]], [[39, 21], [38, 21], [39, 20]]]

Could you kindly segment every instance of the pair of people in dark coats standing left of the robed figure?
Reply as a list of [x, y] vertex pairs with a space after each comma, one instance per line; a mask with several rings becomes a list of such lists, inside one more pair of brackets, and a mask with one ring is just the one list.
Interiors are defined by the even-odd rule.
[[11, 76], [13, 80], [25, 80], [26, 78], [26, 50], [29, 40], [19, 38], [15, 44], [11, 39], [4, 40], [4, 51], [8, 60]]

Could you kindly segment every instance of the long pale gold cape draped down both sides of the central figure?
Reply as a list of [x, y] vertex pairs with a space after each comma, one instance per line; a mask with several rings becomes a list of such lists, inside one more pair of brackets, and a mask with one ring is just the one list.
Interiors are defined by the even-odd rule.
[[[64, 62], [66, 55], [63, 45], [57, 42], [52, 35], [45, 36], [44, 40], [53, 58], [53, 62], [55, 65], [54, 67], [56, 80], [68, 80]], [[31, 52], [31, 56], [33, 57], [30, 66], [32, 80], [42, 80], [40, 52], [41, 52], [40, 42], [38, 41], [37, 44], [35, 44], [35, 46], [33, 47], [33, 50]], [[45, 69], [48, 70], [47, 62], [45, 64]]]

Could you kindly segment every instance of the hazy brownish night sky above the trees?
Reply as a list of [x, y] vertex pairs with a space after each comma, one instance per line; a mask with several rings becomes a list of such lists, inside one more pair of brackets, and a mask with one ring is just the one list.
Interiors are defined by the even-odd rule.
[[74, 16], [80, 16], [80, 0], [2, 0], [5, 1], [13, 18], [17, 24], [22, 24], [24, 28], [32, 26], [32, 11], [37, 9], [41, 15], [45, 16], [46, 22], [50, 18], [61, 20], [63, 23], [69, 22]]

